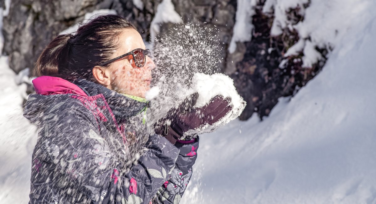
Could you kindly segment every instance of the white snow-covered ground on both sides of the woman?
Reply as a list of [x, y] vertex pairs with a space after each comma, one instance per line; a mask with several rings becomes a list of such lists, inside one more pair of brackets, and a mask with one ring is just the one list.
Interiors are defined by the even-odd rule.
[[[303, 27], [335, 45], [323, 71], [264, 121], [202, 135], [181, 203], [376, 203], [376, 2], [317, 1], [305, 11], [316, 29]], [[0, 204], [28, 201], [36, 129], [22, 117], [22, 80], [1, 57]]]

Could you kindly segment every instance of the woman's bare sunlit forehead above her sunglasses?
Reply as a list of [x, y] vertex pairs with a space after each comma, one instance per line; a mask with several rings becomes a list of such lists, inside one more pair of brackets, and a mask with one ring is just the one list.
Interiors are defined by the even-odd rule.
[[119, 48], [117, 54], [123, 55], [136, 48], [145, 49], [141, 35], [135, 29], [125, 29], [119, 35]]

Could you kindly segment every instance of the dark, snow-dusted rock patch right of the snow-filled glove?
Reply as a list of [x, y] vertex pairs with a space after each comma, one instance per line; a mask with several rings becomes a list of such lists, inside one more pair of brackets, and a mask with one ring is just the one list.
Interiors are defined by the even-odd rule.
[[[261, 12], [263, 3], [260, 2], [253, 16], [255, 29], [252, 41], [237, 43], [237, 50], [233, 55], [239, 56], [230, 55], [238, 59], [235, 72], [230, 72], [230, 76], [239, 94], [247, 102], [247, 107], [240, 116], [241, 120], [247, 120], [254, 112], [261, 120], [268, 116], [279, 97], [294, 95], [322, 69], [326, 61], [325, 49], [317, 49], [323, 60], [310, 68], [302, 67], [302, 54], [284, 58], [287, 49], [299, 40], [298, 34], [284, 30], [280, 36], [271, 36], [270, 22], [274, 17]], [[299, 12], [294, 11], [291, 11], [290, 18], [297, 19], [296, 23], [303, 20]], [[279, 67], [282, 60], [286, 62]]]

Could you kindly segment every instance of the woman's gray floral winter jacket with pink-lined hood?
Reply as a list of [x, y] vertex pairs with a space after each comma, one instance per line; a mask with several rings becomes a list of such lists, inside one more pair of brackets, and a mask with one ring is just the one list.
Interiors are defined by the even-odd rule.
[[90, 81], [41, 76], [33, 84], [24, 110], [39, 129], [29, 204], [179, 203], [198, 138], [172, 145], [144, 124], [147, 102]]

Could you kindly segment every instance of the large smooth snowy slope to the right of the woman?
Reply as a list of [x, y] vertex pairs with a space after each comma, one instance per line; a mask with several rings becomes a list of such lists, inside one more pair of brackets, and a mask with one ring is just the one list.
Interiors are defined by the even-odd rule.
[[290, 102], [201, 136], [183, 203], [376, 203], [376, 3], [358, 3], [323, 71]]

